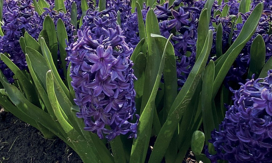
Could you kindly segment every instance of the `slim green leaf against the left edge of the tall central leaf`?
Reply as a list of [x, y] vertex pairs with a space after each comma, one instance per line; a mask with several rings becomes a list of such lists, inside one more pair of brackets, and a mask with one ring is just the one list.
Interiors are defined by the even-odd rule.
[[[137, 8], [140, 8], [140, 4], [138, 2], [136, 2], [136, 10]], [[137, 17], [139, 17], [138, 19], [138, 28], [139, 28], [139, 36], [140, 39], [144, 39], [144, 45], [142, 46], [142, 52], [144, 54], [147, 54], [147, 37], [146, 37], [146, 31], [145, 31], [145, 26], [144, 26], [144, 19], [143, 19], [143, 15], [142, 15], [142, 11], [137, 10]]]

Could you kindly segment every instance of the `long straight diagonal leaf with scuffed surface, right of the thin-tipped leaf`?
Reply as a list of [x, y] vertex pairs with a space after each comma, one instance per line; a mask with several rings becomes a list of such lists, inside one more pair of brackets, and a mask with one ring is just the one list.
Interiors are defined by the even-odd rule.
[[198, 82], [201, 78], [201, 73], [204, 71], [211, 46], [212, 46], [212, 31], [209, 30], [203, 50], [199, 55], [192, 71], [189, 74], [184, 86], [180, 90], [177, 98], [175, 99], [166, 122], [164, 123], [157, 140], [155, 142], [153, 151], [151, 153], [149, 162], [160, 162], [164, 156], [164, 153], [169, 146], [171, 138], [179, 124], [181, 117], [184, 114], [184, 110], [190, 103], [192, 96], [196, 90]]

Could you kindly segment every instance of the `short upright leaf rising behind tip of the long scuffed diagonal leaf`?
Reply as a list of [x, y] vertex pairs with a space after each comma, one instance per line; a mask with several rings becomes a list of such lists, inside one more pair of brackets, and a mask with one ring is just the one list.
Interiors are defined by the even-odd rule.
[[199, 25], [197, 29], [197, 41], [196, 41], [196, 57], [195, 60], [199, 57], [203, 46], [205, 44], [205, 40], [208, 35], [208, 30], [209, 30], [209, 19], [208, 19], [208, 9], [203, 9], [200, 17], [199, 17]]

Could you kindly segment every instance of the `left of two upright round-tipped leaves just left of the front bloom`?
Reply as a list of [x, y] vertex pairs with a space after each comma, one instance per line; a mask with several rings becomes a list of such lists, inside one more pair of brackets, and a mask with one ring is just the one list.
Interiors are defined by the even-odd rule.
[[[39, 0], [41, 1], [41, 0]], [[43, 29], [46, 30], [49, 39], [49, 49], [52, 54], [53, 62], [58, 67], [58, 37], [55, 24], [48, 15], [44, 18]], [[41, 44], [41, 43], [40, 43]]]

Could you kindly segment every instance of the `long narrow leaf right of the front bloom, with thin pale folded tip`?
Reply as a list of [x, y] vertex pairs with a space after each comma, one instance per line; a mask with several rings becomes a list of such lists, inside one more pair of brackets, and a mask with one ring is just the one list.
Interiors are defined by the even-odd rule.
[[[164, 47], [164, 53], [161, 59], [161, 62], [159, 64], [159, 70], [156, 73], [156, 81], [154, 83], [154, 87], [152, 89], [151, 95], [149, 97], [149, 100], [144, 108], [144, 111], [139, 119], [139, 125], [137, 130], [137, 139], [134, 139], [133, 146], [131, 150], [131, 156], [130, 156], [130, 163], [140, 163], [144, 162], [146, 152], [148, 149], [148, 143], [149, 143], [149, 137], [151, 134], [152, 129], [152, 121], [153, 121], [153, 115], [154, 115], [154, 105], [155, 105], [155, 98], [157, 95], [157, 91], [160, 84], [161, 75], [164, 69], [164, 62], [165, 62], [165, 55], [167, 50], [167, 45], [169, 44], [173, 34], [171, 34], [165, 44]], [[157, 41], [163, 42], [164, 37], [160, 35], [153, 35], [154, 38], [157, 39]]]

